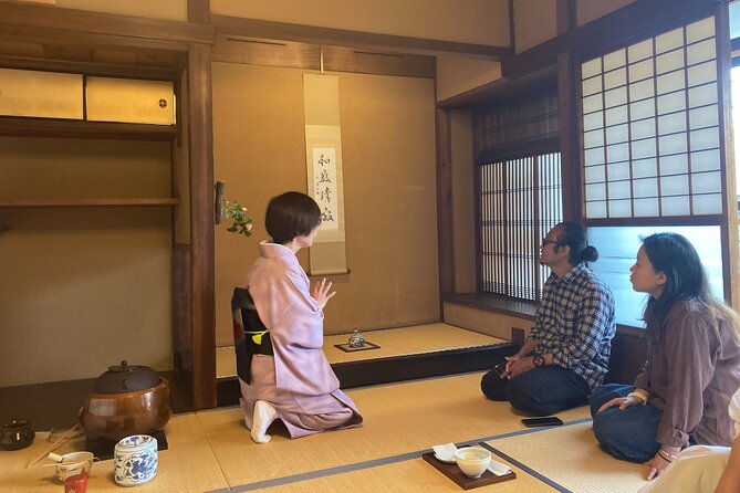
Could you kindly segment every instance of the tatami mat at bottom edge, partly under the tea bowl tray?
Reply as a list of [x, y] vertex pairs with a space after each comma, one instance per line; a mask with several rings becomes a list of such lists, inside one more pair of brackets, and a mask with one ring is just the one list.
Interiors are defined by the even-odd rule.
[[[488, 486], [480, 486], [476, 493], [540, 493], [556, 491], [523, 470], [513, 466], [517, 479]], [[236, 491], [248, 491], [236, 489]], [[447, 479], [423, 459], [413, 459], [377, 468], [351, 471], [298, 483], [265, 489], [270, 493], [327, 493], [327, 492], [406, 492], [406, 493], [459, 493], [460, 486]]]

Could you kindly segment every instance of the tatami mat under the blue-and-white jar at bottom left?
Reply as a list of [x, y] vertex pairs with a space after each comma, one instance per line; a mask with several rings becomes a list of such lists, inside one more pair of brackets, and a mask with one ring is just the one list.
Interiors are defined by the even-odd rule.
[[[198, 418], [194, 413], [174, 416], [167, 427], [168, 450], [158, 453], [156, 478], [137, 486], [137, 493], [186, 493], [228, 489], [226, 478], [216, 461], [208, 439], [204, 434]], [[64, 490], [54, 474], [48, 459], [25, 469], [50, 444], [39, 433], [33, 444], [27, 449], [0, 452], [0, 491], [2, 493], [60, 493]], [[65, 444], [56, 453], [83, 450], [84, 441]], [[121, 492], [124, 489], [113, 480], [113, 460], [93, 464], [88, 481], [88, 492]]]

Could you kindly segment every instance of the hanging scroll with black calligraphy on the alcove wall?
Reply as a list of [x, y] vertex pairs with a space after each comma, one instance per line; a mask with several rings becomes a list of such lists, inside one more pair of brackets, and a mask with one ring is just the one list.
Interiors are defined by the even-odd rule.
[[304, 74], [303, 107], [309, 195], [322, 214], [321, 229], [311, 246], [311, 275], [344, 274], [347, 261], [338, 77]]

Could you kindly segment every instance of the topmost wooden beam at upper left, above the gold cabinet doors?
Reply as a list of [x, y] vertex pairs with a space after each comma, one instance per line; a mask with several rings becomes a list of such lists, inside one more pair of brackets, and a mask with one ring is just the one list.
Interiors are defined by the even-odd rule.
[[185, 41], [211, 44], [213, 28], [208, 24], [146, 19], [131, 15], [61, 9], [52, 6], [0, 0], [0, 25], [73, 31], [145, 40]]

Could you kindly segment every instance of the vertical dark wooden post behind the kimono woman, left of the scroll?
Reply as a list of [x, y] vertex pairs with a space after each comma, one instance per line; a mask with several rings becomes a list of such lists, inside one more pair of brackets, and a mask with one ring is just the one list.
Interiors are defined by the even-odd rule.
[[192, 403], [216, 407], [216, 262], [210, 46], [192, 43], [188, 63]]

